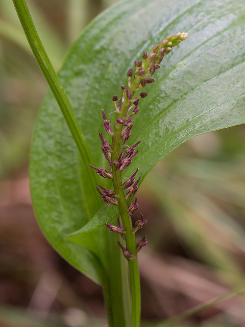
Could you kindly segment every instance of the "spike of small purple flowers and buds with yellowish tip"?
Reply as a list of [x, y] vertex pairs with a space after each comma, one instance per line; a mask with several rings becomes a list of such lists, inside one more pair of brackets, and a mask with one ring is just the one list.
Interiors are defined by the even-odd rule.
[[[165, 37], [159, 44], [155, 45], [150, 54], [143, 51], [142, 60], [135, 61], [135, 74], [133, 69], [129, 69], [127, 73], [128, 86], [121, 85], [122, 97], [118, 100], [117, 96], [112, 98], [115, 106], [115, 110], [110, 112], [116, 113], [114, 130], [112, 130], [111, 121], [107, 120], [104, 110], [102, 110], [103, 124], [106, 133], [112, 136], [112, 142], [109, 144], [104, 139], [103, 134], [99, 133], [102, 142], [102, 152], [106, 160], [108, 161], [109, 167], [99, 169], [90, 165], [91, 168], [96, 170], [96, 174], [104, 178], [112, 179], [114, 191], [107, 190], [102, 185], [97, 186], [97, 191], [101, 194], [103, 201], [106, 205], [117, 205], [119, 208], [120, 216], [117, 218], [118, 226], [109, 225], [106, 226], [109, 230], [119, 233], [122, 239], [126, 240], [127, 245], [127, 233], [134, 234], [137, 230], [144, 227], [146, 219], [140, 213], [141, 219], [136, 221], [135, 226], [132, 227], [132, 223], [127, 225], [127, 221], [131, 221], [131, 215], [138, 209], [137, 198], [133, 198], [128, 205], [128, 200], [134, 196], [138, 189], [138, 183], [140, 177], [136, 180], [135, 176], [139, 169], [136, 169], [134, 174], [129, 178], [121, 178], [121, 172], [124, 171], [132, 162], [133, 157], [138, 153], [135, 148], [139, 145], [140, 141], [129, 146], [128, 142], [133, 127], [132, 116], [137, 114], [139, 111], [139, 100], [147, 96], [146, 92], [141, 92], [141, 89], [146, 84], [154, 82], [152, 78], [156, 69], [160, 66], [162, 59], [166, 56], [173, 46], [178, 45], [182, 40], [188, 37], [187, 33], [177, 33], [175, 35]], [[135, 93], [139, 91], [138, 96]], [[125, 181], [123, 181], [126, 179]], [[127, 207], [127, 210], [125, 209]], [[124, 219], [127, 217], [126, 219]], [[120, 222], [121, 219], [121, 222]], [[130, 229], [130, 230], [129, 230]], [[146, 236], [142, 240], [135, 244], [137, 252], [146, 245]], [[122, 253], [124, 253], [126, 259], [137, 259], [127, 247], [121, 245], [118, 242]]]

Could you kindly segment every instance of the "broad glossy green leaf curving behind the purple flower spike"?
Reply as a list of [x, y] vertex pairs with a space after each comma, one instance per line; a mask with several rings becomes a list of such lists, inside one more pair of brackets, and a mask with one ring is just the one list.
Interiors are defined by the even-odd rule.
[[[127, 71], [142, 51], [179, 31], [187, 32], [189, 38], [164, 58], [133, 119], [129, 144], [139, 139], [141, 143], [125, 176], [139, 167], [142, 181], [162, 157], [187, 139], [245, 123], [244, 27], [243, 0], [171, 4], [127, 0], [95, 19], [72, 46], [59, 74], [94, 165], [107, 167], [98, 136], [103, 131], [101, 109], [113, 110], [111, 99], [121, 96], [120, 85], [126, 84]], [[105, 285], [111, 262], [120, 261], [116, 237], [104, 226], [116, 218], [117, 211], [102, 201], [97, 206], [89, 196], [88, 190], [96, 185], [90, 185], [84, 173], [51, 94], [36, 124], [30, 170], [34, 209], [46, 237], [67, 261]], [[109, 183], [101, 180], [105, 187]], [[72, 233], [75, 236], [68, 240]]]

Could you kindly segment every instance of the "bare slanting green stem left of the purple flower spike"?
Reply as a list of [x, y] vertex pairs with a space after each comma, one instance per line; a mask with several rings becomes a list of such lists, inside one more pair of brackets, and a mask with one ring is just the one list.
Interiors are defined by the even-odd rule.
[[[93, 158], [90, 153], [89, 147], [87, 145], [86, 139], [83, 135], [82, 129], [79, 125], [77, 117], [74, 110], [71, 107], [71, 104], [67, 98], [67, 95], [61, 85], [61, 82], [55, 72], [54, 67], [50, 59], [48, 58], [46, 51], [42, 45], [42, 42], [38, 36], [34, 22], [32, 20], [31, 14], [27, 7], [25, 0], [13, 0], [16, 12], [18, 14], [21, 26], [26, 34], [27, 40], [30, 44], [30, 47], [33, 51], [33, 54], [38, 62], [41, 71], [50, 86], [57, 103], [63, 113], [64, 119], [68, 125], [68, 128], [71, 132], [72, 137], [78, 147], [78, 150], [81, 154], [81, 157], [84, 161], [85, 169], [93, 185], [97, 184], [96, 176], [93, 174], [92, 170], [89, 167], [89, 164], [92, 164]], [[100, 204], [100, 196], [94, 191], [94, 199]]]

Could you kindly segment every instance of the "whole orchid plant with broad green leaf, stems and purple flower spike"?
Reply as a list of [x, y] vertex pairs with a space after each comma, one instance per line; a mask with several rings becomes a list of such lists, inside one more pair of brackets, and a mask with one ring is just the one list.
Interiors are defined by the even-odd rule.
[[[109, 326], [138, 327], [138, 252], [146, 237], [136, 241], [135, 234], [146, 219], [139, 213], [133, 226], [135, 193], [151, 168], [190, 137], [245, 122], [242, 0], [125, 0], [83, 32], [59, 78], [26, 2], [13, 3], [55, 96], [45, 98], [31, 150], [40, 227], [71, 265], [102, 285]], [[179, 30], [190, 37], [168, 55], [188, 36], [173, 34]], [[101, 109], [108, 136], [100, 130]]]

